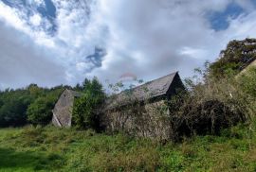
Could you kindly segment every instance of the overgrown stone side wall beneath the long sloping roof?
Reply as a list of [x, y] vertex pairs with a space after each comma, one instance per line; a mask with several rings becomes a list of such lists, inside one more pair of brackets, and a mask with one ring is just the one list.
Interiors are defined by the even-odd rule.
[[107, 111], [103, 123], [110, 132], [123, 131], [138, 137], [169, 140], [173, 133], [166, 107], [165, 101], [160, 100]]

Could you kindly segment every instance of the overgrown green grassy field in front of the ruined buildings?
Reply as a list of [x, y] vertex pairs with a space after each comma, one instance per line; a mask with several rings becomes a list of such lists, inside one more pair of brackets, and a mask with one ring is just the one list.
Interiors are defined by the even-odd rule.
[[91, 130], [0, 129], [0, 171], [256, 171], [255, 135], [238, 126], [163, 145]]

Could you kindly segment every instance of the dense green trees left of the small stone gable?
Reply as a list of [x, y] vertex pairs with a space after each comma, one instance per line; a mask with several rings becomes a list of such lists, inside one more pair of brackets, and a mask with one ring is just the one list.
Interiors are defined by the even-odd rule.
[[48, 89], [30, 84], [22, 89], [1, 91], [0, 127], [47, 124], [51, 119], [51, 110], [65, 87]]

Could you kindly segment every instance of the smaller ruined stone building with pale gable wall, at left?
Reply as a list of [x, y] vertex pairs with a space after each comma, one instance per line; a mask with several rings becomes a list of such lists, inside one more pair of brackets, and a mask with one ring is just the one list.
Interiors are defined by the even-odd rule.
[[54, 126], [71, 127], [74, 100], [81, 95], [81, 93], [72, 90], [64, 90], [52, 111], [52, 124]]

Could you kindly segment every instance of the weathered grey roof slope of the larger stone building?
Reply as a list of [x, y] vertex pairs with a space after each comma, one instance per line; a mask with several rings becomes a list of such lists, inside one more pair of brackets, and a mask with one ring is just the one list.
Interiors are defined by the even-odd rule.
[[115, 109], [119, 106], [124, 106], [135, 101], [143, 101], [161, 95], [167, 95], [176, 75], [178, 75], [178, 73], [174, 72], [165, 77], [159, 77], [155, 80], [146, 82], [134, 89], [114, 95], [107, 100], [106, 110]]

